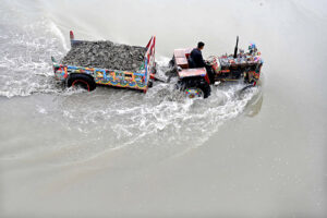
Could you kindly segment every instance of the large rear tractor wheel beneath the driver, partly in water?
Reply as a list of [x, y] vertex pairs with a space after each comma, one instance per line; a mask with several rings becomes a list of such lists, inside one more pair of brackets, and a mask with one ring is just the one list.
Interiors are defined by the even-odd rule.
[[181, 87], [187, 98], [207, 98], [211, 94], [210, 85], [202, 77], [183, 80]]

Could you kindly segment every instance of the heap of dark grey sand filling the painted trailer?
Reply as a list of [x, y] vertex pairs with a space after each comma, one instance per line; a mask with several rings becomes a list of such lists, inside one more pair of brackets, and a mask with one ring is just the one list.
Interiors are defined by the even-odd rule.
[[108, 70], [137, 71], [146, 48], [111, 41], [81, 41], [72, 46], [62, 63]]

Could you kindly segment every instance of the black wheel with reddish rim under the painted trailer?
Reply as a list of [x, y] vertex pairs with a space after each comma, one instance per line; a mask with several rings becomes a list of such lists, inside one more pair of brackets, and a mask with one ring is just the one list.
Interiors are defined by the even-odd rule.
[[86, 74], [70, 74], [68, 78], [68, 87], [81, 87], [88, 92], [96, 88], [96, 83], [93, 77]]

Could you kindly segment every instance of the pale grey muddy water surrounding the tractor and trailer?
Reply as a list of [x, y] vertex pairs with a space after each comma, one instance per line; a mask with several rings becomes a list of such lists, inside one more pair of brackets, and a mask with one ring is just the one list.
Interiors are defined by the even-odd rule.
[[[202, 9], [202, 10], [199, 10]], [[325, 1], [25, 1], [0, 8], [1, 217], [326, 217]], [[196, 19], [194, 19], [196, 16]], [[263, 52], [263, 81], [187, 100], [56, 84], [76, 38]]]

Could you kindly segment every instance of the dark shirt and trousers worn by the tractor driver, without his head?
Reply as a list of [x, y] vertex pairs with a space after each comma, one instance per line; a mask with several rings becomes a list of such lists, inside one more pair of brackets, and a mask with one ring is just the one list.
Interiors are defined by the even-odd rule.
[[213, 71], [213, 68], [203, 60], [202, 52], [199, 49], [194, 48], [189, 57], [189, 65], [190, 69], [194, 68], [206, 68], [210, 83], [215, 83], [215, 73]]

